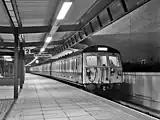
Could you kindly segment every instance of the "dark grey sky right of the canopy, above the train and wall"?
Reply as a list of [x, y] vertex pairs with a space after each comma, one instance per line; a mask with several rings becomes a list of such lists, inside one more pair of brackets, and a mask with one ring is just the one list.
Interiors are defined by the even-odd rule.
[[122, 54], [124, 63], [155, 67], [160, 64], [159, 5], [159, 0], [151, 0], [132, 11], [93, 34], [92, 44], [105, 44], [117, 48]]

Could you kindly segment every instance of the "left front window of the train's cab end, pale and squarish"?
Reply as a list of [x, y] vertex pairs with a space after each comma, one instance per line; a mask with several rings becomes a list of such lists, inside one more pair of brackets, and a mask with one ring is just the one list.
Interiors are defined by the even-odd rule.
[[97, 56], [87, 56], [87, 66], [97, 66]]

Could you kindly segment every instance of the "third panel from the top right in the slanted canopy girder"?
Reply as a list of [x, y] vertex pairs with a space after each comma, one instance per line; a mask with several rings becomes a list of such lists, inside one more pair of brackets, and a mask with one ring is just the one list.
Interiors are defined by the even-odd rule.
[[108, 15], [108, 12], [107, 12], [107, 9], [104, 9], [102, 12], [100, 12], [99, 18], [100, 18], [100, 21], [103, 26], [105, 26], [111, 22], [109, 15]]

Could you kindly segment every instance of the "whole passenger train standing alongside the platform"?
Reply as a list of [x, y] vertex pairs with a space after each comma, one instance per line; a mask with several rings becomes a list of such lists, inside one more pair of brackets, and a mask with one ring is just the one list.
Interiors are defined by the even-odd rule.
[[118, 89], [123, 83], [121, 54], [106, 45], [88, 46], [32, 66], [30, 72], [75, 83], [89, 91]]

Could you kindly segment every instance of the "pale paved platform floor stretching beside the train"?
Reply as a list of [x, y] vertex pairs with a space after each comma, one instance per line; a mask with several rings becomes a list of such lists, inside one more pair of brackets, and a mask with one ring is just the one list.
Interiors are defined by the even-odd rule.
[[158, 120], [53, 79], [25, 78], [6, 120]]

